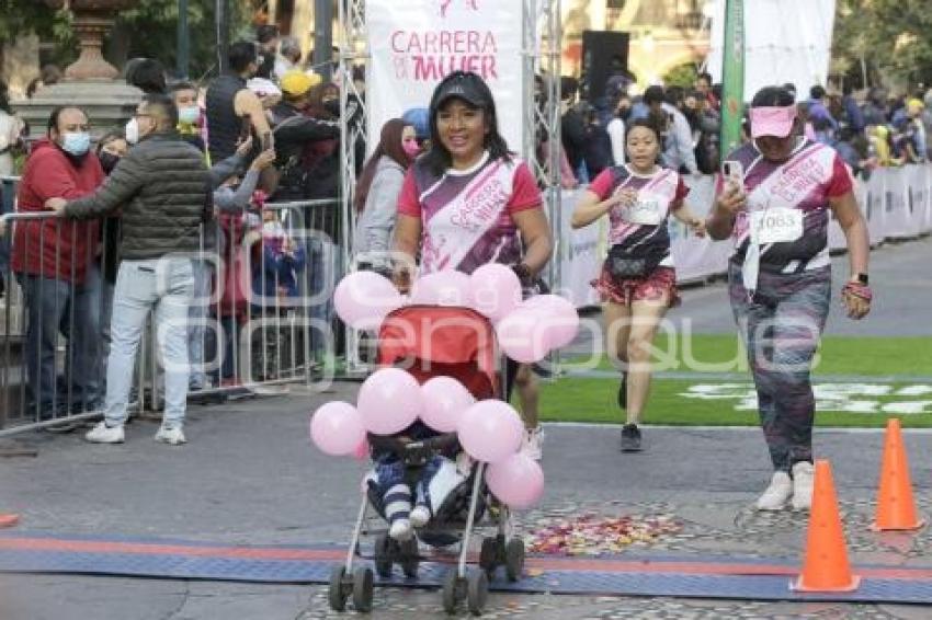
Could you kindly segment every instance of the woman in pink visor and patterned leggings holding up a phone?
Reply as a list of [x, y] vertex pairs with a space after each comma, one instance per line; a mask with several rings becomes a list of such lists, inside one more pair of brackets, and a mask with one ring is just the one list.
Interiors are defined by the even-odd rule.
[[760, 510], [812, 503], [812, 356], [831, 298], [829, 215], [844, 231], [851, 276], [841, 300], [852, 319], [871, 310], [867, 226], [851, 174], [830, 147], [802, 136], [793, 95], [766, 87], [750, 110], [752, 140], [731, 152], [707, 221], [731, 237], [731, 309], [748, 351], [774, 473]]

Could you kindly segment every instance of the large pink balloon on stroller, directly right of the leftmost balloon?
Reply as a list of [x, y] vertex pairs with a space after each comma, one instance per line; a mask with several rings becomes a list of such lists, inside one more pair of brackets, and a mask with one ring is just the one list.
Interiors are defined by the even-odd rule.
[[423, 406], [418, 380], [400, 368], [373, 372], [356, 398], [363, 426], [375, 435], [400, 433], [414, 422]]

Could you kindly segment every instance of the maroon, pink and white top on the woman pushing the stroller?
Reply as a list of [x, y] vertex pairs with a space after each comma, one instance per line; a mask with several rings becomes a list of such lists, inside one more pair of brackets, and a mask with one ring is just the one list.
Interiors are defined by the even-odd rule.
[[523, 161], [490, 160], [469, 170], [433, 174], [418, 161], [408, 170], [398, 213], [421, 218], [421, 274], [457, 269], [471, 274], [487, 263], [521, 261], [512, 217], [541, 207], [541, 190]]

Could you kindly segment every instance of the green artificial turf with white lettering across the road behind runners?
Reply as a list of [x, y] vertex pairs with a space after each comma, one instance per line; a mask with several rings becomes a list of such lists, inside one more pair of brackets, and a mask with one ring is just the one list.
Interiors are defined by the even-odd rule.
[[[655, 378], [645, 422], [757, 424], [757, 411], [747, 410], [753, 404], [747, 400], [753, 386], [735, 336], [696, 335], [686, 341], [682, 336], [661, 334], [657, 343], [660, 353], [655, 359], [659, 360], [662, 370], [696, 375], [689, 379]], [[565, 369], [570, 372], [612, 369], [604, 357], [590, 361], [586, 364], [579, 357], [567, 359]], [[711, 372], [740, 375], [729, 379], [720, 375], [703, 376]], [[872, 381], [871, 377], [877, 377], [877, 381]], [[880, 380], [889, 377], [895, 378], [893, 382]], [[909, 380], [910, 377], [917, 379]], [[817, 391], [816, 422], [820, 426], [874, 427], [896, 416], [903, 421], [903, 426], [932, 427], [932, 379], [925, 379], [929, 377], [932, 377], [932, 337], [827, 337], [812, 378]], [[617, 423], [622, 420], [615, 378], [568, 376], [542, 381], [541, 417], [559, 422]], [[721, 398], [694, 398], [696, 391], [725, 393], [719, 394]]]

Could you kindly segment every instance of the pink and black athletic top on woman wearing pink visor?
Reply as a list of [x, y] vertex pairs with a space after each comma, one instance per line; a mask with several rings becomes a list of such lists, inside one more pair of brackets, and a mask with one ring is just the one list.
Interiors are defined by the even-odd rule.
[[[831, 147], [799, 139], [799, 145], [783, 163], [766, 161], [748, 142], [726, 160], [738, 161], [745, 171], [748, 207], [738, 214], [731, 238], [731, 261], [745, 262], [750, 241], [749, 211], [788, 208], [803, 211], [803, 232], [795, 241], [763, 243], [760, 269], [768, 273], [798, 274], [828, 266], [829, 198], [851, 191], [851, 173]], [[719, 179], [718, 191], [723, 181]]]

